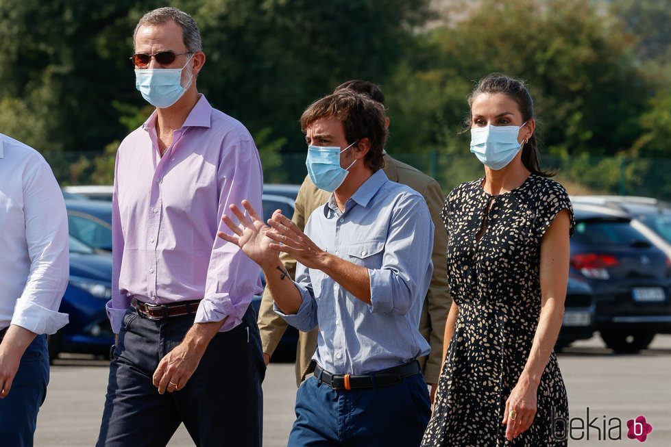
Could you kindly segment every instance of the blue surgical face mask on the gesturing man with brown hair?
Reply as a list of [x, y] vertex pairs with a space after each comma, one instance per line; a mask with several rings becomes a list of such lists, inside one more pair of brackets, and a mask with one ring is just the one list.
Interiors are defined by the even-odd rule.
[[350, 173], [349, 168], [356, 163], [356, 159], [347, 169], [340, 166], [340, 154], [354, 146], [356, 141], [342, 151], [338, 146], [308, 146], [308, 158], [305, 166], [308, 167], [310, 180], [320, 190], [334, 192], [343, 184], [345, 177]]

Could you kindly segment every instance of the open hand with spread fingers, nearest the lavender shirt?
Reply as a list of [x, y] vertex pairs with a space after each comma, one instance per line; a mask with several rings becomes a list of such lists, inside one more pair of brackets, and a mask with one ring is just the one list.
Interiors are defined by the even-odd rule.
[[271, 248], [271, 242], [273, 241], [267, 238], [267, 233], [271, 231], [271, 228], [263, 223], [251, 203], [243, 200], [242, 205], [247, 210], [249, 218], [241, 212], [239, 207], [230, 205], [231, 212], [240, 223], [237, 225], [229, 216], [224, 214], [221, 216], [221, 220], [233, 231], [234, 235], [219, 231], [217, 236], [239, 246], [243, 253], [256, 264], [263, 265], [276, 261], [278, 251], [276, 248]]

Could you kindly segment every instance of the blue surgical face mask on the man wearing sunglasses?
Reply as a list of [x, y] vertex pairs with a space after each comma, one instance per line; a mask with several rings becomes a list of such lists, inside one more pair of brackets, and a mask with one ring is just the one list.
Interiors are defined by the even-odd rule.
[[154, 107], [164, 109], [176, 103], [191, 86], [193, 74], [182, 87], [182, 70], [188, 65], [186, 60], [182, 68], [142, 68], [135, 70], [135, 87], [140, 90], [142, 97]]

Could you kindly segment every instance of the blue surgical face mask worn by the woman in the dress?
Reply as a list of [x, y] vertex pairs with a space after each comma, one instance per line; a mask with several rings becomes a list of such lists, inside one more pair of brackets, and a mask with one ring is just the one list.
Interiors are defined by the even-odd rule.
[[471, 127], [471, 152], [490, 169], [507, 166], [522, 149], [517, 135], [525, 125]]

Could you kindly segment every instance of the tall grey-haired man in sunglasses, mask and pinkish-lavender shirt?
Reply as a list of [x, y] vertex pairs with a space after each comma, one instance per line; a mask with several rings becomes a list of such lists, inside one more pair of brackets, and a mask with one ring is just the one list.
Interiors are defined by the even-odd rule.
[[197, 92], [193, 18], [160, 8], [134, 33], [136, 87], [156, 111], [119, 146], [112, 299], [117, 342], [99, 446], [260, 446], [265, 366], [252, 296], [259, 268], [216, 237], [263, 174], [249, 131]]

